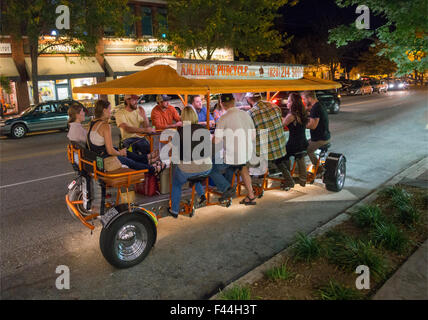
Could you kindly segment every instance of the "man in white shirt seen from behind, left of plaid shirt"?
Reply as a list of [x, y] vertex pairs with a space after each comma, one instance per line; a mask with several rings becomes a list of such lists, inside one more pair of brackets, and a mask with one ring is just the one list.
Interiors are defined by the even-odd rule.
[[223, 201], [234, 196], [236, 188], [231, 186], [232, 177], [236, 169], [240, 169], [248, 191], [248, 197], [241, 203], [255, 205], [253, 186], [247, 167], [255, 140], [253, 120], [247, 112], [235, 108], [235, 98], [232, 94], [222, 94], [220, 101], [227, 112], [217, 122], [214, 144], [216, 150], [219, 149], [219, 144], [223, 144], [223, 160], [219, 161], [217, 157], [215, 158], [210, 178], [222, 193], [220, 201]]

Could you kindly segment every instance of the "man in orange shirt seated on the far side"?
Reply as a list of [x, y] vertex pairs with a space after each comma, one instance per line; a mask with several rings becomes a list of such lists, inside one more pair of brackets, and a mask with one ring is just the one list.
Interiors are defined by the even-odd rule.
[[[153, 108], [151, 119], [156, 130], [181, 127], [181, 118], [173, 106], [169, 104], [170, 96], [159, 94], [156, 97], [158, 104]], [[175, 121], [175, 123], [174, 123]]]

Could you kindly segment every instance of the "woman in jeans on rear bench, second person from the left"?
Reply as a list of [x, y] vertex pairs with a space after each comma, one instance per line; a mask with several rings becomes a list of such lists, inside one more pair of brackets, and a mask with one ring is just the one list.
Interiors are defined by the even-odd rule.
[[111, 116], [110, 102], [98, 100], [95, 103], [94, 113], [95, 119], [91, 121], [87, 135], [88, 147], [91, 151], [101, 157], [117, 156], [120, 163], [135, 170], [148, 169], [149, 172], [159, 175], [165, 169], [166, 165], [161, 161], [150, 165], [147, 163], [147, 157], [113, 147], [111, 126], [108, 123]]

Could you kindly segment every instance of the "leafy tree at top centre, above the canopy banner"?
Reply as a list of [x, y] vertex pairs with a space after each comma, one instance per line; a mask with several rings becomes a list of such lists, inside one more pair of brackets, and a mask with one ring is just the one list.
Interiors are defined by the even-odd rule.
[[169, 0], [166, 40], [180, 52], [190, 50], [195, 57], [206, 60], [216, 49], [227, 47], [251, 60], [280, 53], [289, 39], [272, 27], [278, 8], [287, 3], [288, 0]]

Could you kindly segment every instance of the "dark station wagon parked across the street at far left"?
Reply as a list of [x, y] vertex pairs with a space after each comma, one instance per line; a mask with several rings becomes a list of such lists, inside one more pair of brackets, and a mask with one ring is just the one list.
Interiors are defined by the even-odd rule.
[[[73, 103], [81, 105], [88, 115], [88, 110], [78, 101], [46, 101], [37, 105], [31, 105], [19, 115], [6, 117], [0, 121], [0, 135], [19, 139], [24, 137], [28, 132], [50, 129], [66, 130], [68, 108]], [[89, 117], [86, 120], [88, 121]]]

